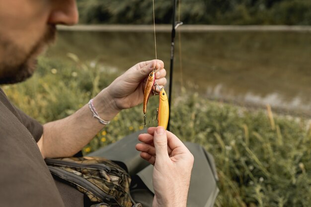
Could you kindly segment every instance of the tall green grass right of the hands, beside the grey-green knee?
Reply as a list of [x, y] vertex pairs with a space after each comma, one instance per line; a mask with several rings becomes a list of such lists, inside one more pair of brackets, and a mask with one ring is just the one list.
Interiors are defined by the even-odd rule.
[[272, 129], [263, 111], [198, 94], [183, 96], [172, 112], [177, 137], [202, 144], [215, 157], [221, 189], [217, 207], [311, 205], [311, 136], [305, 121], [277, 117]]

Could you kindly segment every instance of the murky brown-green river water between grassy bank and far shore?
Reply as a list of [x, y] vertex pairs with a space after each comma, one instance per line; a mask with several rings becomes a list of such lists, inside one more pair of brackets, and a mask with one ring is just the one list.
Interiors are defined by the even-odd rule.
[[[311, 116], [311, 33], [184, 32], [180, 38], [177, 34], [175, 45], [173, 96], [183, 85], [206, 98], [270, 104], [285, 113]], [[157, 33], [156, 47], [168, 71], [170, 33]], [[69, 52], [123, 71], [155, 58], [154, 34], [61, 31], [47, 55], [64, 60]]]

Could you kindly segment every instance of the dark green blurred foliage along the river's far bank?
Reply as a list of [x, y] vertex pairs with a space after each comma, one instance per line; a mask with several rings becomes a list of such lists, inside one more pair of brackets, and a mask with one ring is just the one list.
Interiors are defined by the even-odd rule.
[[[155, 0], [156, 23], [171, 23], [172, 6]], [[152, 0], [78, 0], [78, 8], [81, 23], [153, 23]], [[310, 0], [181, 0], [180, 10], [185, 24], [311, 25]]]

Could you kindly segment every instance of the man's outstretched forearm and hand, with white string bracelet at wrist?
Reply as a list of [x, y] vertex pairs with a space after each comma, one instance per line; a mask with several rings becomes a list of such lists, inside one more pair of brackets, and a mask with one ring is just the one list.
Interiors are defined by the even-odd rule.
[[[165, 85], [166, 71], [162, 61], [136, 64], [94, 97], [93, 104], [99, 117], [110, 121], [121, 109], [142, 103], [148, 74], [155, 68], [160, 69], [156, 72], [157, 84]], [[38, 146], [43, 157], [72, 156], [102, 128], [103, 125], [92, 117], [88, 104], [85, 104], [73, 115], [45, 124]]]

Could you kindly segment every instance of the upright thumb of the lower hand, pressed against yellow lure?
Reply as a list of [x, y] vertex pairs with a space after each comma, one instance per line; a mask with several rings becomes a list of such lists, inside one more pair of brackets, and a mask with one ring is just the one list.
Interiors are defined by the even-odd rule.
[[167, 159], [167, 136], [163, 127], [157, 127], [154, 133], [154, 144], [156, 148], [156, 159]]

